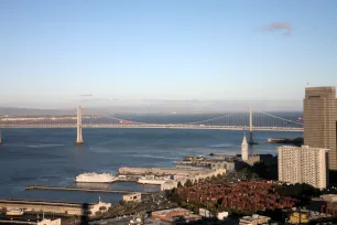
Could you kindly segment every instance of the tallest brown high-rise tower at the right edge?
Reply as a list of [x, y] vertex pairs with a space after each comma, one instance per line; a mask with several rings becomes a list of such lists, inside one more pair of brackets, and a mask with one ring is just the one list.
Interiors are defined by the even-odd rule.
[[329, 149], [329, 169], [337, 170], [337, 99], [335, 87], [309, 87], [304, 98], [304, 144]]

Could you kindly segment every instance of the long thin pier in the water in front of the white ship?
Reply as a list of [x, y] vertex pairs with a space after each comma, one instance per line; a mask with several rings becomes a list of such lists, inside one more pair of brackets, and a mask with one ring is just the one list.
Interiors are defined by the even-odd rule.
[[87, 189], [87, 188], [73, 188], [73, 186], [44, 186], [44, 185], [29, 185], [29, 186], [25, 186], [25, 190], [101, 192], [101, 193], [118, 193], [118, 194], [131, 194], [131, 193], [151, 194], [151, 192], [135, 192], [135, 191], [127, 191], [127, 190]]

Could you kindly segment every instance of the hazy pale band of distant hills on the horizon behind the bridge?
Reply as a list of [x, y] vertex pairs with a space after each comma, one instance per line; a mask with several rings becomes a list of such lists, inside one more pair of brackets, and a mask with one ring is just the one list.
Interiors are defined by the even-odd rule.
[[[247, 111], [249, 106], [259, 111], [302, 111], [297, 100], [151, 100], [127, 103], [123, 105], [89, 107], [84, 105], [84, 115], [113, 114], [222, 114], [226, 111]], [[76, 106], [63, 109], [39, 109], [0, 107], [0, 115], [76, 115]]]

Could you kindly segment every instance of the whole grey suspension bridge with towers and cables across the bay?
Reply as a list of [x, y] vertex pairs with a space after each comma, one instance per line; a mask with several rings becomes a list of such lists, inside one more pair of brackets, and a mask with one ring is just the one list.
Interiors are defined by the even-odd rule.
[[279, 116], [252, 111], [228, 113], [215, 118], [192, 122], [153, 124], [126, 120], [106, 115], [83, 115], [77, 107], [77, 115], [64, 116], [0, 116], [0, 128], [77, 128], [77, 143], [83, 143], [83, 128], [162, 128], [162, 129], [218, 129], [249, 130], [252, 142], [253, 130], [261, 131], [303, 131], [303, 122]]

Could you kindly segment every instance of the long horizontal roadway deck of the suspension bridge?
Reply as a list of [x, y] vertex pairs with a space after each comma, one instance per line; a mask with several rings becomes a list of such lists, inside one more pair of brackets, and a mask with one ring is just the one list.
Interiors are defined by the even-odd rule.
[[[21, 124], [21, 125], [3, 125], [0, 128], [76, 128], [75, 124]], [[156, 125], [156, 124], [133, 124], [133, 125], [118, 125], [118, 124], [83, 124], [83, 128], [143, 128], [143, 129], [195, 129], [195, 130], [249, 130], [249, 126], [209, 126], [209, 125]], [[303, 132], [303, 128], [296, 127], [253, 127], [254, 131], [289, 131]]]

